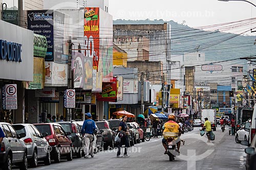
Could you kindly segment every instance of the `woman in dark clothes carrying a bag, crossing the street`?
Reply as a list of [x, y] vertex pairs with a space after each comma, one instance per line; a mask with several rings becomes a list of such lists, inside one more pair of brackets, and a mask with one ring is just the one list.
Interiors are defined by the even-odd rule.
[[[129, 147], [129, 139], [128, 139], [128, 135], [129, 135], [129, 128], [127, 125], [127, 116], [123, 115], [122, 116], [122, 121], [119, 124], [118, 127], [118, 132], [123, 134], [123, 136], [121, 137], [121, 141], [120, 143], [118, 143], [118, 151], [117, 151], [117, 158], [121, 158], [121, 157], [129, 157], [130, 155], [127, 155], [127, 151], [128, 151], [128, 147]], [[124, 148], [124, 154], [123, 156], [121, 156], [121, 147], [122, 145], [125, 144], [125, 148]]]

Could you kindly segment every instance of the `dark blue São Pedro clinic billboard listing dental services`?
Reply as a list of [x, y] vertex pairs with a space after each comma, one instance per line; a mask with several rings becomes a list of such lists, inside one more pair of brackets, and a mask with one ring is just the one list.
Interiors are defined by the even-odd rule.
[[65, 25], [66, 15], [55, 10], [29, 10], [28, 29], [46, 36], [47, 54], [45, 61], [68, 62], [68, 41]]

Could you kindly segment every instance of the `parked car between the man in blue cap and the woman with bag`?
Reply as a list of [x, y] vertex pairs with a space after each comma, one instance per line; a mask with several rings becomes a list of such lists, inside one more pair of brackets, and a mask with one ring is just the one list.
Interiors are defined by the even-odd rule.
[[108, 147], [110, 147], [111, 149], [114, 149], [114, 141], [115, 141], [116, 134], [113, 131], [113, 128], [110, 125], [110, 123], [108, 121], [98, 121], [95, 123], [100, 130], [104, 131], [102, 132], [102, 135], [104, 138], [104, 149], [106, 150], [108, 149]]

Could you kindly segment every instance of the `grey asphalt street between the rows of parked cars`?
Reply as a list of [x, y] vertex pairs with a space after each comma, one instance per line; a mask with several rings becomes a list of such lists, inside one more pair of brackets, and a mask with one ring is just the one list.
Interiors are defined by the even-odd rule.
[[[181, 155], [169, 162], [161, 143], [161, 137], [135, 144], [129, 148], [131, 157], [116, 158], [117, 150], [106, 150], [95, 154], [94, 158], [73, 159], [49, 166], [38, 164], [30, 169], [245, 169], [246, 146], [236, 143], [234, 136], [228, 135], [228, 127], [224, 133], [220, 127], [215, 131], [215, 140], [207, 143], [206, 135], [200, 136], [199, 127], [185, 133], [181, 139]], [[123, 151], [121, 152], [123, 154]]]

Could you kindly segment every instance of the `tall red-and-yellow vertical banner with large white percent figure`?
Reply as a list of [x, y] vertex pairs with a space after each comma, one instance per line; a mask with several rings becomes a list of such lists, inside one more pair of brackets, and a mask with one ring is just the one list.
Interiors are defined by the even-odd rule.
[[84, 8], [84, 55], [93, 58], [93, 69], [99, 65], [99, 8]]

